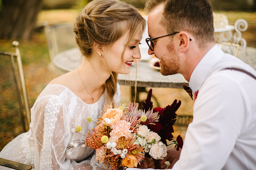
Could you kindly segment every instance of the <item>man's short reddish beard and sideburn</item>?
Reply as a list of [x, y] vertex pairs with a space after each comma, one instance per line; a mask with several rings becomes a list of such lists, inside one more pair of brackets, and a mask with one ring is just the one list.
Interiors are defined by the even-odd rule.
[[160, 73], [163, 75], [177, 74], [180, 68], [180, 58], [175, 52], [173, 44], [169, 44], [167, 48], [168, 53], [165, 53], [163, 59], [161, 59]]

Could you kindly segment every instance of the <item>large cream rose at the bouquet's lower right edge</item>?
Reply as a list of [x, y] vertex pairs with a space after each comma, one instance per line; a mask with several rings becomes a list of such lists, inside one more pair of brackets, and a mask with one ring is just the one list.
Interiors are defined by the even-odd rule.
[[149, 155], [154, 159], [164, 159], [167, 156], [167, 147], [162, 142], [152, 144]]

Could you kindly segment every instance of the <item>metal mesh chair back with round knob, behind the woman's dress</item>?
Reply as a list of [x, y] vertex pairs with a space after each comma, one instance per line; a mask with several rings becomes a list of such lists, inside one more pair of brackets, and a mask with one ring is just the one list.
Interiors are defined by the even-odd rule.
[[16, 53], [0, 52], [0, 151], [13, 138], [29, 129], [30, 110], [19, 43]]

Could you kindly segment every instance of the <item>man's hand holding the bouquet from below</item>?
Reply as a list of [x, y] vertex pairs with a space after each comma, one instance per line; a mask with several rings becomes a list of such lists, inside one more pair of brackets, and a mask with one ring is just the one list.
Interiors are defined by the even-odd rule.
[[168, 169], [171, 169], [172, 166], [175, 164], [175, 162], [179, 160], [180, 152], [181, 152], [181, 149], [179, 151], [177, 151], [175, 148], [169, 149], [167, 151], [167, 156], [164, 159], [157, 161], [157, 168], [165, 169], [167, 165], [164, 162], [169, 161], [170, 166], [168, 167]]

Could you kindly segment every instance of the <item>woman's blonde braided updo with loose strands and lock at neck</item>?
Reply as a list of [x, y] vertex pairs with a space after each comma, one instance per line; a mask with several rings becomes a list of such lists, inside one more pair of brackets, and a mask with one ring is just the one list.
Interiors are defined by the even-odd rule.
[[[82, 13], [76, 17], [73, 31], [76, 43], [84, 57], [90, 58], [93, 43], [111, 47], [126, 32], [130, 33], [127, 45], [132, 41], [137, 30], [146, 28], [145, 19], [130, 4], [118, 0], [93, 0], [88, 3]], [[124, 56], [122, 54], [122, 60]], [[116, 93], [117, 73], [106, 81], [107, 102], [113, 101]]]

